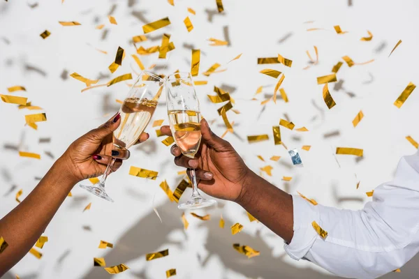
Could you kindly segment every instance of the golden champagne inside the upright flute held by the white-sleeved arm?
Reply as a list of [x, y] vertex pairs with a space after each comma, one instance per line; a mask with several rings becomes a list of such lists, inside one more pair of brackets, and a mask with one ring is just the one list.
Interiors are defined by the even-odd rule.
[[200, 144], [200, 113], [192, 110], [171, 110], [168, 112], [170, 129], [177, 146], [184, 156], [193, 158]]

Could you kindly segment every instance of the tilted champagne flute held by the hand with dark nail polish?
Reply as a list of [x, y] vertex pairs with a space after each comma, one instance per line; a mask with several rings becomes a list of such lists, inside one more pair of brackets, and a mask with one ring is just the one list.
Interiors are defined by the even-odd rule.
[[[117, 149], [129, 149], [138, 141], [141, 133], [152, 119], [154, 110], [163, 91], [163, 79], [152, 73], [143, 71], [128, 91], [124, 103], [119, 109], [121, 124], [113, 133], [113, 144]], [[116, 159], [106, 167], [101, 180], [94, 185], [81, 185], [80, 187], [90, 193], [113, 202], [105, 191], [105, 181], [112, 170]]]

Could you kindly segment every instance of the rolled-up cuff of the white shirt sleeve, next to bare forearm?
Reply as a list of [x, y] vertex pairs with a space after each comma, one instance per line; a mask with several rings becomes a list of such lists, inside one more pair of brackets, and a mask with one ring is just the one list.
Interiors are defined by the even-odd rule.
[[320, 214], [313, 204], [310, 204], [299, 195], [293, 195], [294, 235], [291, 243], [284, 244], [287, 254], [293, 259], [301, 259], [309, 252], [317, 232], [311, 223], [316, 221], [321, 226]]

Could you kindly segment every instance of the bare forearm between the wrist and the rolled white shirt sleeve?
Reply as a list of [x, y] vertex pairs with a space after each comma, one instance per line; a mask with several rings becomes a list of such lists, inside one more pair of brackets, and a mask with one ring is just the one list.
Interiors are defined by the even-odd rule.
[[293, 197], [251, 170], [237, 203], [287, 243], [293, 239]]

